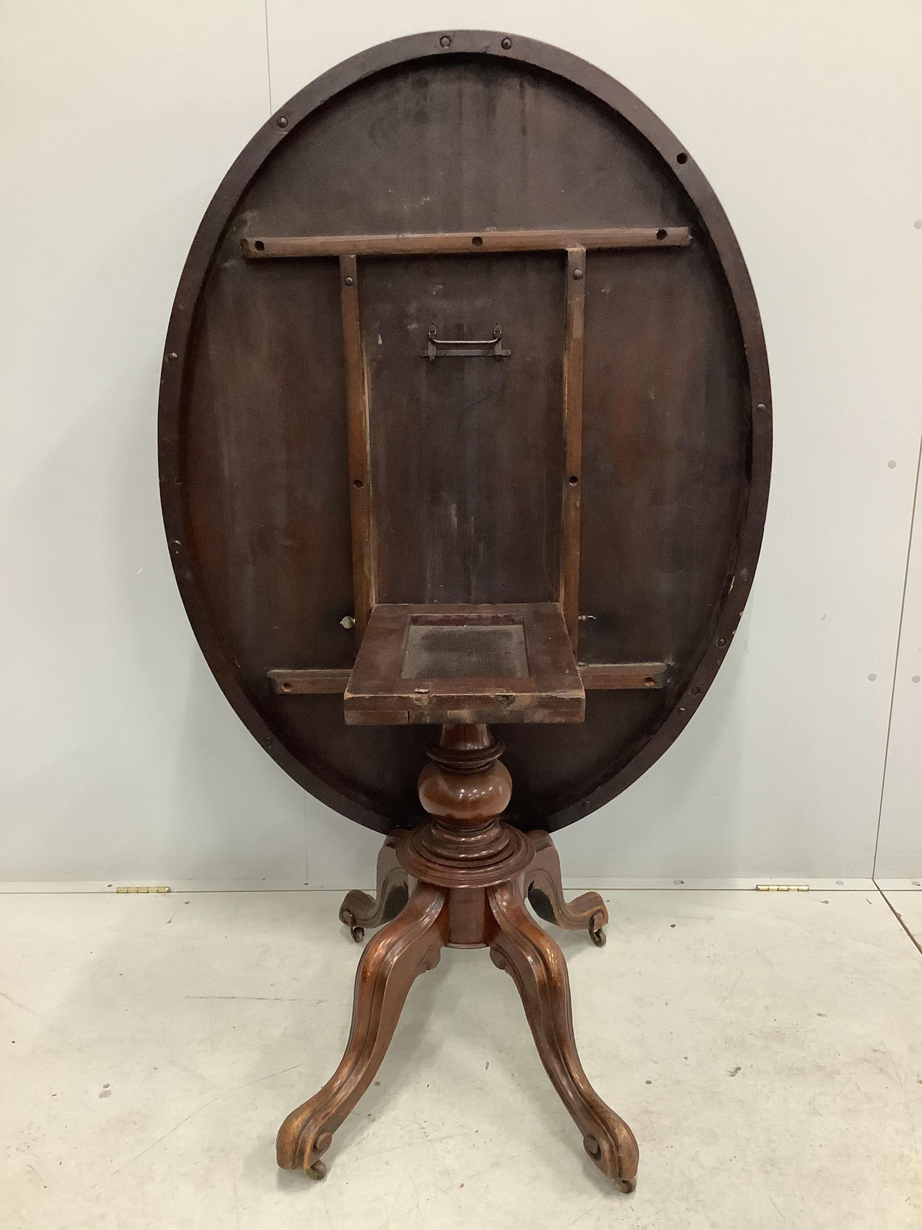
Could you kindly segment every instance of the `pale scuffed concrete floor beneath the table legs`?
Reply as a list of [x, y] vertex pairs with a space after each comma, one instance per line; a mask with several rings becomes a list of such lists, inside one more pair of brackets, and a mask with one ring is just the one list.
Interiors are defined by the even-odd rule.
[[922, 1224], [922, 954], [877, 892], [610, 892], [607, 947], [556, 932], [632, 1196], [486, 952], [417, 982], [327, 1178], [278, 1171], [345, 1044], [341, 895], [0, 897], [2, 1230]]

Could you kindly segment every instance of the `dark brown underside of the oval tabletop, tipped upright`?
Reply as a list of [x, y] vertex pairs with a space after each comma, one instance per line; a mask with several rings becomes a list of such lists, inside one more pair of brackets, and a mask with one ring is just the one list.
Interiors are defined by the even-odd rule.
[[[666, 239], [647, 246], [585, 237], [660, 230]], [[514, 232], [542, 244], [551, 232], [559, 247], [526, 239], [510, 251]], [[250, 241], [273, 236], [316, 251], [253, 260]], [[379, 246], [357, 251], [357, 236]], [[408, 236], [450, 240], [420, 256], [371, 255], [381, 237]], [[476, 260], [457, 236], [483, 239], [471, 242]], [[489, 236], [506, 246], [492, 250]], [[561, 481], [575, 456], [568, 247], [586, 248], [575, 496]], [[343, 285], [353, 256], [354, 299]], [[419, 351], [433, 323], [460, 338], [500, 325], [511, 353], [429, 362]], [[729, 223], [637, 98], [556, 48], [516, 38], [506, 54], [491, 32], [452, 33], [449, 49], [430, 34], [372, 48], [253, 138], [183, 271], [160, 472], [195, 635], [269, 754], [386, 833], [419, 815], [430, 736], [347, 726], [342, 694], [286, 695], [268, 673], [350, 670], [375, 598], [557, 601], [578, 547], [575, 625], [575, 579], [563, 598], [584, 670], [663, 670], [656, 686], [586, 683], [583, 723], [504, 731], [508, 817], [553, 830], [643, 772], [723, 661], [758, 555], [770, 407]], [[354, 585], [357, 567], [368, 573], [355, 546], [363, 502], [376, 587], [365, 594]]]

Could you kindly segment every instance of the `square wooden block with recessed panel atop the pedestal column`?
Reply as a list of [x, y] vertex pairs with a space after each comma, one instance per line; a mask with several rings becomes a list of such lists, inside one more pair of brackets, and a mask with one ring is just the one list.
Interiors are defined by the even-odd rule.
[[343, 697], [349, 726], [581, 722], [558, 603], [381, 603]]

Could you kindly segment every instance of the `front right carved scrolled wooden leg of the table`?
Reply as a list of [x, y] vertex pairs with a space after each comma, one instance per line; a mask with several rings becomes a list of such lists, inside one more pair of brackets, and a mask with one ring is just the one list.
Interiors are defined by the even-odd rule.
[[[527, 883], [527, 877], [526, 877]], [[495, 922], [491, 957], [515, 982], [541, 1061], [577, 1127], [583, 1148], [622, 1191], [633, 1191], [638, 1150], [634, 1134], [602, 1102], [577, 1054], [567, 963], [554, 941], [525, 909], [515, 883], [487, 889]]]

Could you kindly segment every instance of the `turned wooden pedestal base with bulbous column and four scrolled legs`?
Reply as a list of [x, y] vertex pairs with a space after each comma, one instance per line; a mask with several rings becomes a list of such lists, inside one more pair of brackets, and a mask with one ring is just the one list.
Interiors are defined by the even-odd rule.
[[419, 777], [419, 798], [431, 818], [387, 838], [379, 856], [376, 899], [358, 891], [345, 897], [341, 918], [354, 938], [364, 938], [366, 927], [387, 925], [359, 961], [352, 1031], [339, 1066], [279, 1129], [280, 1166], [326, 1175], [322, 1155], [374, 1080], [417, 975], [438, 963], [443, 947], [486, 947], [519, 989], [541, 1060], [586, 1153], [604, 1175], [633, 1191], [637, 1143], [583, 1071], [567, 964], [529, 914], [525, 897], [542, 918], [585, 927], [599, 945], [605, 942], [607, 911], [597, 893], [567, 904], [550, 836], [525, 834], [500, 820], [511, 796], [502, 750], [486, 726], [444, 726]]

